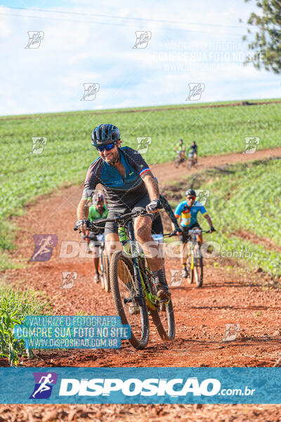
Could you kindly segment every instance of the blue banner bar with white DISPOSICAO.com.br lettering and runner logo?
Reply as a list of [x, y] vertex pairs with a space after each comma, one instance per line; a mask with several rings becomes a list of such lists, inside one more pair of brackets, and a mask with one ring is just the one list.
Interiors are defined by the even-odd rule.
[[1, 368], [0, 403], [281, 403], [279, 368]]

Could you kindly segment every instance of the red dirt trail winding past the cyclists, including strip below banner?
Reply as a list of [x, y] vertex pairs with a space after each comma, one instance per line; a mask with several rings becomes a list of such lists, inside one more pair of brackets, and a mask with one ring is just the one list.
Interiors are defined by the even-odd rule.
[[[253, 158], [281, 155], [281, 148], [259, 151]], [[206, 168], [243, 160], [249, 155], [231, 154], [228, 158], [201, 158], [200, 166]], [[227, 160], [227, 161], [226, 161]], [[163, 169], [166, 169], [163, 170]], [[175, 177], [174, 167], [155, 165], [155, 175], [160, 182]], [[187, 172], [187, 170], [185, 170]], [[181, 170], [183, 177], [183, 170]], [[91, 257], [60, 258], [61, 243], [80, 243], [81, 237], [73, 231], [76, 208], [81, 198], [81, 186], [72, 186], [40, 198], [27, 207], [27, 214], [13, 221], [20, 226], [17, 237], [18, 249], [11, 255], [27, 262], [34, 250], [33, 234], [56, 234], [58, 245], [47, 262], [30, 262], [22, 269], [4, 271], [7, 283], [21, 288], [42, 290], [51, 298], [53, 314], [72, 315], [87, 313], [114, 315], [110, 293], [93, 283]], [[216, 234], [209, 239], [216, 240]], [[204, 283], [197, 289], [183, 281], [180, 287], [171, 287], [176, 317], [176, 338], [172, 343], [162, 343], [151, 322], [150, 343], [145, 350], [135, 350], [124, 341], [119, 350], [36, 350], [33, 359], [22, 359], [24, 366], [273, 366], [280, 357], [280, 302], [281, 290], [275, 288], [269, 276], [243, 270], [240, 262], [230, 266], [228, 260], [205, 260]], [[233, 264], [233, 263], [232, 263]], [[180, 269], [177, 259], [166, 259], [166, 274]], [[77, 281], [73, 288], [60, 288], [62, 271], [76, 271]], [[237, 338], [223, 341], [226, 324], [240, 324]], [[7, 363], [1, 359], [0, 365]], [[30, 411], [30, 409], [33, 409]], [[202, 421], [280, 421], [281, 410], [277, 406], [65, 406], [32, 407], [1, 406], [0, 421], [78, 421], [88, 418], [95, 421], [170, 421], [175, 418]], [[48, 410], [47, 410], [48, 409]], [[93, 409], [93, 410], [91, 410]], [[221, 410], [220, 410], [221, 409]], [[11, 416], [13, 412], [13, 416]], [[53, 412], [53, 413], [52, 413]], [[55, 413], [54, 413], [55, 412]], [[7, 417], [4, 417], [6, 414]], [[47, 416], [49, 415], [49, 416]], [[51, 416], [50, 416], [51, 415]], [[145, 417], [144, 417], [145, 415]], [[193, 416], [191, 416], [193, 415]], [[16, 416], [16, 418], [15, 418]], [[85, 420], [85, 419], [84, 419]]]

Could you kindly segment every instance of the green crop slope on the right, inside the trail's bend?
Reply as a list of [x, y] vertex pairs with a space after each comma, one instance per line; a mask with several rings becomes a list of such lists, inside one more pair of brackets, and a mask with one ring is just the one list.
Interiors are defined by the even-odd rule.
[[[191, 178], [178, 187], [183, 191], [190, 184]], [[205, 207], [217, 232], [205, 240], [218, 242], [219, 255], [241, 257], [249, 268], [281, 276], [281, 160], [232, 165], [225, 172], [207, 170], [193, 187], [209, 191]], [[175, 200], [171, 205], [176, 206]], [[209, 228], [200, 215], [198, 221], [202, 229]], [[258, 236], [257, 243], [241, 238], [241, 230]], [[259, 244], [259, 238], [270, 239], [276, 247]]]

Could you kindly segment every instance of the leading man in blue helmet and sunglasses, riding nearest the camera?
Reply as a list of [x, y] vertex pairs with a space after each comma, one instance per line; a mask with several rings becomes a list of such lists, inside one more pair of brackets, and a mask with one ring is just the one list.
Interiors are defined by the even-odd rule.
[[[153, 214], [162, 207], [157, 181], [138, 151], [129, 146], [121, 147], [120, 132], [114, 124], [100, 124], [93, 129], [91, 142], [100, 156], [92, 162], [86, 174], [83, 195], [77, 208], [77, 227], [85, 234], [89, 204], [99, 183], [103, 185], [110, 200], [109, 219], [131, 211], [149, 212], [150, 215], [139, 215], [134, 219], [136, 240], [141, 243], [148, 260], [158, 298], [169, 300], [171, 293], [166, 283], [162, 259], [153, 257], [157, 243], [151, 236], [152, 219]], [[117, 223], [105, 224], [105, 245], [109, 255], [115, 250], [122, 250], [117, 230]]]

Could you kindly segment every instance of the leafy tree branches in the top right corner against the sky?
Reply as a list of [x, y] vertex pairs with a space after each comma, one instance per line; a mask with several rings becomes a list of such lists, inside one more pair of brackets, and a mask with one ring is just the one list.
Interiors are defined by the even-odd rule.
[[[250, 0], [244, 0], [245, 2]], [[281, 73], [281, 1], [255, 0], [261, 13], [251, 13], [247, 23], [259, 28], [254, 41], [249, 40], [249, 50], [261, 52], [258, 60], [253, 60], [255, 68]], [[241, 20], [240, 20], [241, 22]], [[248, 30], [252, 34], [251, 30]], [[243, 40], [247, 40], [244, 35]], [[249, 63], [247, 60], [244, 64]]]

